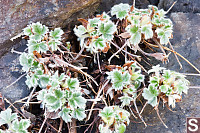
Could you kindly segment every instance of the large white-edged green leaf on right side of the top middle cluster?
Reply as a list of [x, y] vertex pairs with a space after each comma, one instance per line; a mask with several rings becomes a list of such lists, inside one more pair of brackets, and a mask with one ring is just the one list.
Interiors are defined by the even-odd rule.
[[117, 31], [116, 25], [112, 21], [101, 23], [98, 27], [104, 39], [112, 40], [113, 34]]

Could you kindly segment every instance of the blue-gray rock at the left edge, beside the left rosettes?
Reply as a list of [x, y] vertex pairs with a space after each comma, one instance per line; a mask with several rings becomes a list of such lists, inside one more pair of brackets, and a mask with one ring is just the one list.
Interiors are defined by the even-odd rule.
[[[24, 45], [25, 43], [25, 40], [20, 41], [15, 45], [15, 47], [19, 47], [16, 50], [23, 51], [26, 47]], [[19, 54], [8, 52], [0, 58], [0, 92], [12, 103], [28, 96], [30, 93], [30, 90], [25, 84], [25, 77], [6, 88], [23, 74], [21, 68]]]

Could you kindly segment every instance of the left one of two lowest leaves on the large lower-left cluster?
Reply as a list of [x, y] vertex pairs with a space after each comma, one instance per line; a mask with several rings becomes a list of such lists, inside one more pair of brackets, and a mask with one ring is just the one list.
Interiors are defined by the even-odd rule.
[[60, 112], [58, 113], [58, 116], [62, 117], [62, 119], [63, 119], [66, 123], [68, 123], [68, 122], [71, 122], [71, 121], [72, 121], [72, 120], [71, 120], [72, 117], [71, 117], [70, 113], [71, 113], [70, 109], [68, 109], [68, 108], [63, 108], [62, 111], [60, 111]]

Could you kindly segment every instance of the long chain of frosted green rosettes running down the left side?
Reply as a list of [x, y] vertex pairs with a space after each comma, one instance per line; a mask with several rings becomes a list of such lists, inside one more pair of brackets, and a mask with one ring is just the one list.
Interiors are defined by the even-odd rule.
[[78, 79], [47, 69], [44, 62], [49, 59], [42, 58], [42, 53], [58, 49], [63, 31], [56, 28], [49, 32], [38, 22], [28, 25], [24, 34], [29, 36], [29, 52], [20, 55], [20, 64], [22, 70], [27, 72], [27, 86], [42, 88], [37, 99], [42, 101], [43, 108], [48, 112], [59, 111], [58, 117], [65, 122], [70, 122], [71, 118], [83, 120], [86, 117], [86, 99], [82, 97]]

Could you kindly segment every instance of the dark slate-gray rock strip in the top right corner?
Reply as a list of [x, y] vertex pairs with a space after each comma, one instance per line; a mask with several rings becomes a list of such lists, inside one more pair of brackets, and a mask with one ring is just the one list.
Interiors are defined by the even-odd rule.
[[164, 8], [168, 10], [170, 6], [177, 1], [177, 3], [172, 8], [171, 12], [193, 12], [199, 13], [199, 0], [160, 0], [159, 8]]

